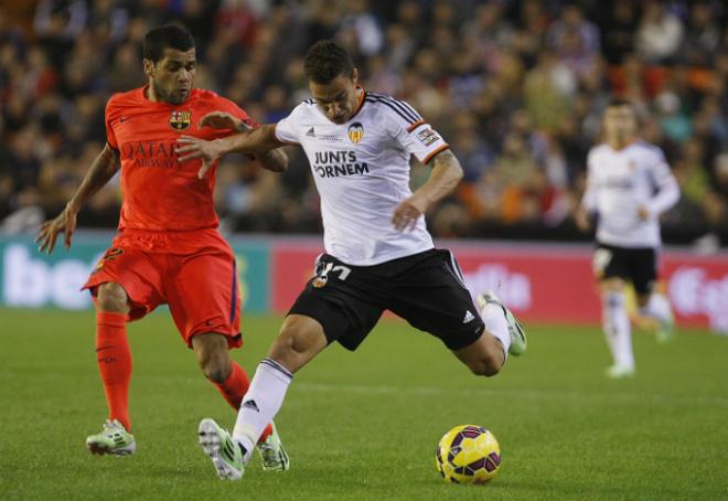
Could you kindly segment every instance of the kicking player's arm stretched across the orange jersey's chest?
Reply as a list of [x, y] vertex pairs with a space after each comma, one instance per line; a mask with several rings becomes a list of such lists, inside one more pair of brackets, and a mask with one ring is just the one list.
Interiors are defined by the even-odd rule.
[[176, 142], [179, 145], [176, 149], [178, 161], [202, 160], [202, 167], [197, 173], [200, 178], [205, 175], [205, 172], [207, 172], [215, 160], [227, 153], [239, 152], [265, 157], [263, 153], [268, 153], [268, 151], [285, 145], [276, 139], [276, 126], [272, 124], [263, 125], [256, 129], [242, 131], [224, 139], [215, 139], [214, 141], [182, 136]]

